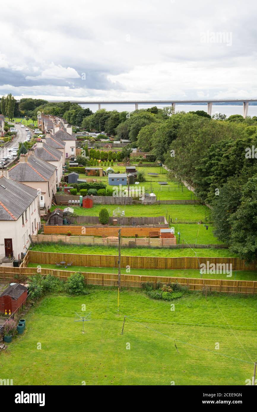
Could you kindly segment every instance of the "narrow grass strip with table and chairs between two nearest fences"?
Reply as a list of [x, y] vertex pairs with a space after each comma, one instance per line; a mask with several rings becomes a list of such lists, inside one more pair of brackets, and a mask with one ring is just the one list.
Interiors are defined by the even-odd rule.
[[[28, 267], [37, 267], [37, 263], [29, 263]], [[42, 268], [47, 269], [56, 269], [59, 270], [60, 268], [56, 265], [47, 265], [41, 264]], [[75, 272], [94, 272], [94, 273], [117, 273], [118, 268], [110, 268], [110, 267], [85, 267], [85, 266], [63, 266], [61, 270], [68, 270], [68, 271], [75, 271]], [[125, 268], [121, 268], [121, 274], [128, 274]], [[179, 277], [179, 278], [201, 278], [204, 279], [225, 279], [225, 280], [240, 280], [240, 281], [256, 281], [257, 280], [257, 270], [254, 271], [247, 271], [247, 270], [238, 270], [232, 271], [232, 277], [227, 278], [226, 274], [204, 274], [200, 275], [200, 271], [198, 269], [130, 269], [130, 275], [141, 275], [141, 276], [171, 276], [171, 277]]]

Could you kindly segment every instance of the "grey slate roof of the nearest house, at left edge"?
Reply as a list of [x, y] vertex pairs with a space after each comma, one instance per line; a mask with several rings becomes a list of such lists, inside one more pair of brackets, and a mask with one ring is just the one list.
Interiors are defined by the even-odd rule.
[[36, 189], [23, 183], [0, 177], [0, 220], [17, 220], [37, 197], [37, 193]]

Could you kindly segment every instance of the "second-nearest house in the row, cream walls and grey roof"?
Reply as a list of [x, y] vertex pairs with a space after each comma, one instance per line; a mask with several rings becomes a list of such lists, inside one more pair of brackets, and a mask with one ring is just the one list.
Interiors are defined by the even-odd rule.
[[40, 190], [40, 214], [52, 206], [57, 191], [56, 166], [33, 155], [20, 155], [20, 162], [9, 169], [9, 177]]

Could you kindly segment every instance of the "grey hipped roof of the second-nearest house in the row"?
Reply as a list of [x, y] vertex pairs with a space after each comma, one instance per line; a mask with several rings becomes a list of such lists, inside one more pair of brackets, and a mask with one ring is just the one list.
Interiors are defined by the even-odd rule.
[[18, 182], [45, 182], [50, 179], [56, 166], [39, 157], [28, 156], [28, 162], [18, 163], [9, 170], [9, 177]]

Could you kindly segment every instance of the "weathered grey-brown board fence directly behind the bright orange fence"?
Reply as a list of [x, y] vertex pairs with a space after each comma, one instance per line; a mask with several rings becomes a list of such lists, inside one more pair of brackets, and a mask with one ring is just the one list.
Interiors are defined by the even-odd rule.
[[[77, 224], [82, 224], [82, 225], [88, 225], [91, 223], [91, 225], [101, 225], [99, 222], [99, 217], [98, 216], [68, 216], [68, 221], [71, 223], [77, 223]], [[113, 225], [113, 219], [117, 220], [117, 225], [123, 225], [123, 226], [138, 226], [138, 225], [151, 225], [154, 227], [168, 227], [168, 222], [165, 219], [165, 216], [154, 216], [154, 217], [128, 217], [126, 218], [125, 216], [123, 218], [116, 217], [114, 218], [113, 216], [109, 217], [108, 220], [108, 225]], [[102, 225], [101, 225], [102, 227]]]

